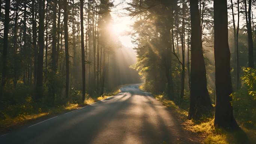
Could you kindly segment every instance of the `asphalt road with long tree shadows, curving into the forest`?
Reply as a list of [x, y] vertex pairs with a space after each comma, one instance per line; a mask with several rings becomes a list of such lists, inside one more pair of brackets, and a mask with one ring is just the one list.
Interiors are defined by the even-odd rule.
[[169, 110], [150, 93], [128, 85], [81, 109], [0, 136], [0, 144], [188, 144]]

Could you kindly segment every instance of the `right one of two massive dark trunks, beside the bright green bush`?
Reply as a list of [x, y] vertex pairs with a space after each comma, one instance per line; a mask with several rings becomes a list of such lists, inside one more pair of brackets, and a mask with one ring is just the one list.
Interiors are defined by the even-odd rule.
[[226, 0], [214, 0], [214, 59], [216, 107], [214, 126], [238, 128], [231, 105], [232, 83], [228, 46], [228, 10]]

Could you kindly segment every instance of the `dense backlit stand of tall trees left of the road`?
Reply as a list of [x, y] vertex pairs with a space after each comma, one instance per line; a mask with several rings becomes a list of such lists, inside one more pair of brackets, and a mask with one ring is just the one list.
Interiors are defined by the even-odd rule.
[[122, 45], [109, 31], [111, 7], [109, 0], [1, 0], [1, 117], [30, 98], [37, 109], [137, 82], [116, 74]]

